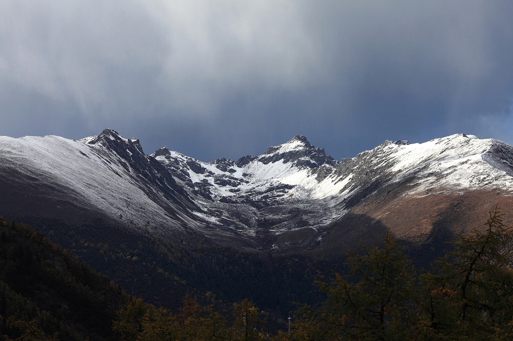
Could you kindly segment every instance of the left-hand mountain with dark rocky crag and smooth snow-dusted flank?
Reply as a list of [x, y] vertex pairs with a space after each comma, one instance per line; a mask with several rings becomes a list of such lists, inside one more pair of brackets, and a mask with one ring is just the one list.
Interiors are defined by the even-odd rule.
[[124, 226], [195, 226], [194, 204], [137, 139], [0, 137], [2, 212]]

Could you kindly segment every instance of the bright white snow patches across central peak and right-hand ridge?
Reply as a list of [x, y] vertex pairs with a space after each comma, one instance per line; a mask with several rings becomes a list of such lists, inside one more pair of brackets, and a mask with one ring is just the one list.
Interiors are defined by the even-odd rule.
[[[479, 189], [483, 185], [486, 187], [487, 184], [490, 184], [489, 181], [484, 183], [480, 181], [485, 174], [489, 173], [493, 175], [494, 182], [498, 181], [500, 186], [510, 187], [513, 162], [508, 164], [509, 161], [499, 162], [487, 157], [486, 153], [494, 143], [492, 141], [496, 140], [480, 139], [475, 135], [464, 134], [433, 139], [425, 143], [409, 143], [401, 140], [385, 141], [373, 150], [362, 152], [357, 157], [345, 161], [352, 164], [353, 169], [361, 172], [362, 164], [358, 160], [364, 159], [366, 167], [372, 168], [372, 172], [381, 169], [381, 171], [376, 171], [376, 177], [383, 176], [383, 172], [390, 174], [392, 176], [390, 182], [397, 182], [411, 176], [416, 177], [419, 179], [418, 186], [411, 192], [412, 194], [433, 185], [443, 185], [446, 188], [455, 188], [455, 190]], [[361, 181], [361, 178], [353, 177], [353, 172], [340, 172], [337, 175], [331, 174], [324, 179], [318, 179], [319, 167], [313, 169], [299, 167], [285, 158], [262, 162], [266, 157], [265, 160], [268, 160], [269, 156], [298, 153], [298, 151], [307, 150], [308, 147], [310, 144], [306, 138], [296, 136], [282, 145], [270, 147], [266, 153], [254, 157], [244, 166], [239, 167], [232, 164], [229, 171], [221, 170], [216, 166], [215, 161], [206, 163], [177, 152], [169, 152], [167, 160], [164, 156], [155, 158], [168, 167], [170, 163], [181, 160], [183, 168], [187, 169], [188, 173], [185, 182], [189, 182], [189, 186], [191, 184], [207, 185], [209, 195], [214, 200], [248, 195], [258, 197], [259, 193], [266, 193], [270, 188], [280, 184], [292, 187], [285, 190], [287, 197], [317, 200], [344, 196], [344, 193], [352, 191], [351, 187], [353, 189], [359, 187], [354, 181], [351, 182], [351, 180]], [[372, 160], [366, 160], [367, 158]], [[310, 164], [318, 166], [317, 162], [305, 156], [297, 158], [296, 162], [305, 159], [312, 161]], [[185, 162], [195, 163], [206, 172], [197, 173]], [[466, 163], [471, 164], [472, 169], [461, 167]], [[335, 161], [324, 166], [331, 170], [331, 168], [340, 168], [340, 163]], [[504, 173], [501, 171], [506, 173], [507, 177], [504, 177]], [[433, 177], [433, 174], [439, 176]], [[223, 184], [220, 181], [220, 178], [223, 177], [230, 181]], [[342, 179], [344, 181], [341, 181]], [[367, 181], [369, 180], [367, 177]]]

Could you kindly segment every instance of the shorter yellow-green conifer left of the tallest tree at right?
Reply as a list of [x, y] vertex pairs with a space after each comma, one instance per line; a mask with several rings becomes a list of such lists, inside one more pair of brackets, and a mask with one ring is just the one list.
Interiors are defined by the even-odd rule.
[[317, 282], [327, 299], [317, 308], [305, 306], [292, 339], [389, 340], [413, 333], [417, 296], [416, 271], [388, 233], [382, 245], [350, 250], [349, 273], [335, 273]]

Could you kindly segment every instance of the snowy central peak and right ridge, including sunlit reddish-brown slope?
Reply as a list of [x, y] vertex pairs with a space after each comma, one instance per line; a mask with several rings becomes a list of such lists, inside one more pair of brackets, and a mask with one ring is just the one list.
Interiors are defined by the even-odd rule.
[[[466, 227], [462, 223], [454, 228], [479, 227], [479, 215], [496, 202], [505, 209], [511, 206], [513, 190], [513, 147], [464, 134], [422, 144], [385, 141], [341, 162], [303, 136], [271, 147], [261, 156], [237, 161], [205, 163], [166, 147], [152, 156], [208, 212], [213, 224], [260, 237], [296, 231], [303, 246], [330, 240], [324, 236], [330, 226], [354, 225], [352, 235], [362, 237], [367, 233], [362, 224], [368, 221], [348, 222], [353, 217], [348, 212], [372, 217], [374, 224], [384, 222], [400, 237], [425, 241], [433, 237], [433, 223], [449, 228], [456, 220], [441, 216], [469, 201], [462, 206]], [[467, 207], [476, 203], [482, 208]], [[456, 230], [436, 232], [450, 235]], [[285, 236], [274, 239], [290, 244]]]

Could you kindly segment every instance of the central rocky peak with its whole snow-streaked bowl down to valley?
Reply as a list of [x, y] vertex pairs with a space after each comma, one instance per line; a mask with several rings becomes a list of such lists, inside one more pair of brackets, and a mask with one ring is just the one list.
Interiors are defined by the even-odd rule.
[[152, 156], [219, 228], [229, 227], [254, 237], [262, 231], [277, 233], [314, 226], [334, 217], [328, 212], [331, 207], [319, 201], [333, 192], [333, 186], [319, 186], [319, 174], [331, 172], [337, 161], [303, 136], [270, 147], [258, 157], [237, 161], [201, 162], [167, 147]]

